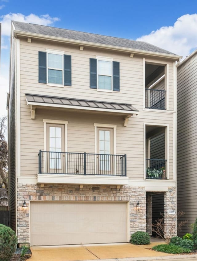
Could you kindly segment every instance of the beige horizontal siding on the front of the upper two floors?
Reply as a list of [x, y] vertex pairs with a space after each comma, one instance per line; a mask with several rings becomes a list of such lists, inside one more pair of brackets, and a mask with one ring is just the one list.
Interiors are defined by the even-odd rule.
[[[173, 179], [173, 113], [143, 111], [143, 57], [118, 52], [87, 49], [65, 45], [27, 43], [20, 40], [20, 88], [21, 88], [21, 175], [35, 176], [38, 173], [38, 152], [44, 149], [43, 119], [66, 120], [68, 152], [94, 153], [94, 123], [116, 124], [116, 154], [127, 154], [127, 175], [131, 179], [144, 179], [144, 122], [169, 124], [170, 179]], [[38, 83], [38, 51], [45, 48], [65, 51], [72, 56], [72, 86], [64, 88]], [[96, 55], [114, 58], [120, 62], [120, 92], [98, 92], [89, 87], [89, 58]], [[166, 63], [165, 60], [151, 61]], [[55, 108], [36, 108], [35, 119], [30, 118], [25, 93], [131, 103], [139, 110], [131, 116], [127, 127], [124, 116], [100, 113], [72, 112]], [[173, 109], [173, 63], [169, 61], [169, 109]]]

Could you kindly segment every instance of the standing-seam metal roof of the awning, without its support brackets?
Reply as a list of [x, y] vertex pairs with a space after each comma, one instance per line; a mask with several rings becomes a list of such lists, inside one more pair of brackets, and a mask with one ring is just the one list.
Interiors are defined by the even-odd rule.
[[134, 108], [131, 104], [127, 104], [127, 103], [71, 99], [65, 97], [45, 96], [45, 95], [35, 95], [35, 94], [26, 94], [25, 96], [27, 102], [33, 102], [33, 103], [61, 104], [66, 106], [67, 105], [80, 106], [86, 108], [102, 108], [102, 109], [110, 109], [114, 111], [131, 111], [131, 113], [138, 112], [136, 108]]

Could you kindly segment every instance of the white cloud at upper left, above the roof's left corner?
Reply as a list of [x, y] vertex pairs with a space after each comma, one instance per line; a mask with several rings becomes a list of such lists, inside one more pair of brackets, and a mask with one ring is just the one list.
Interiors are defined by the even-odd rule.
[[59, 21], [57, 17], [50, 17], [49, 14], [43, 15], [36, 15], [36, 14], [5, 14], [1, 17], [2, 23], [2, 35], [10, 36], [10, 28], [11, 28], [11, 20], [18, 21], [18, 22], [26, 22], [26, 23], [34, 23], [34, 24], [41, 24], [41, 25], [51, 25], [56, 21]]

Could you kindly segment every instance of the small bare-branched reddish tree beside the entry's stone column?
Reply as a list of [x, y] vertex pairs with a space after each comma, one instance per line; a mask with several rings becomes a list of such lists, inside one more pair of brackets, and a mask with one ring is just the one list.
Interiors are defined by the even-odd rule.
[[181, 230], [181, 227], [187, 223], [186, 220], [178, 222], [179, 218], [182, 217], [185, 213], [183, 211], [179, 211], [177, 213], [177, 220], [168, 225], [167, 231], [165, 231], [164, 225], [164, 214], [160, 213], [162, 218], [156, 220], [156, 223], [152, 224], [152, 231], [157, 234], [157, 237], [161, 237], [166, 241], [167, 244], [170, 243], [170, 239], [175, 235], [176, 226], [177, 231]]

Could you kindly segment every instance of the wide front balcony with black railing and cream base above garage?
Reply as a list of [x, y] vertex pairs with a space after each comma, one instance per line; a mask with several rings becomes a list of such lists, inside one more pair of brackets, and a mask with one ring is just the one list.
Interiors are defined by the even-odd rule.
[[127, 185], [125, 155], [39, 151], [37, 183]]

